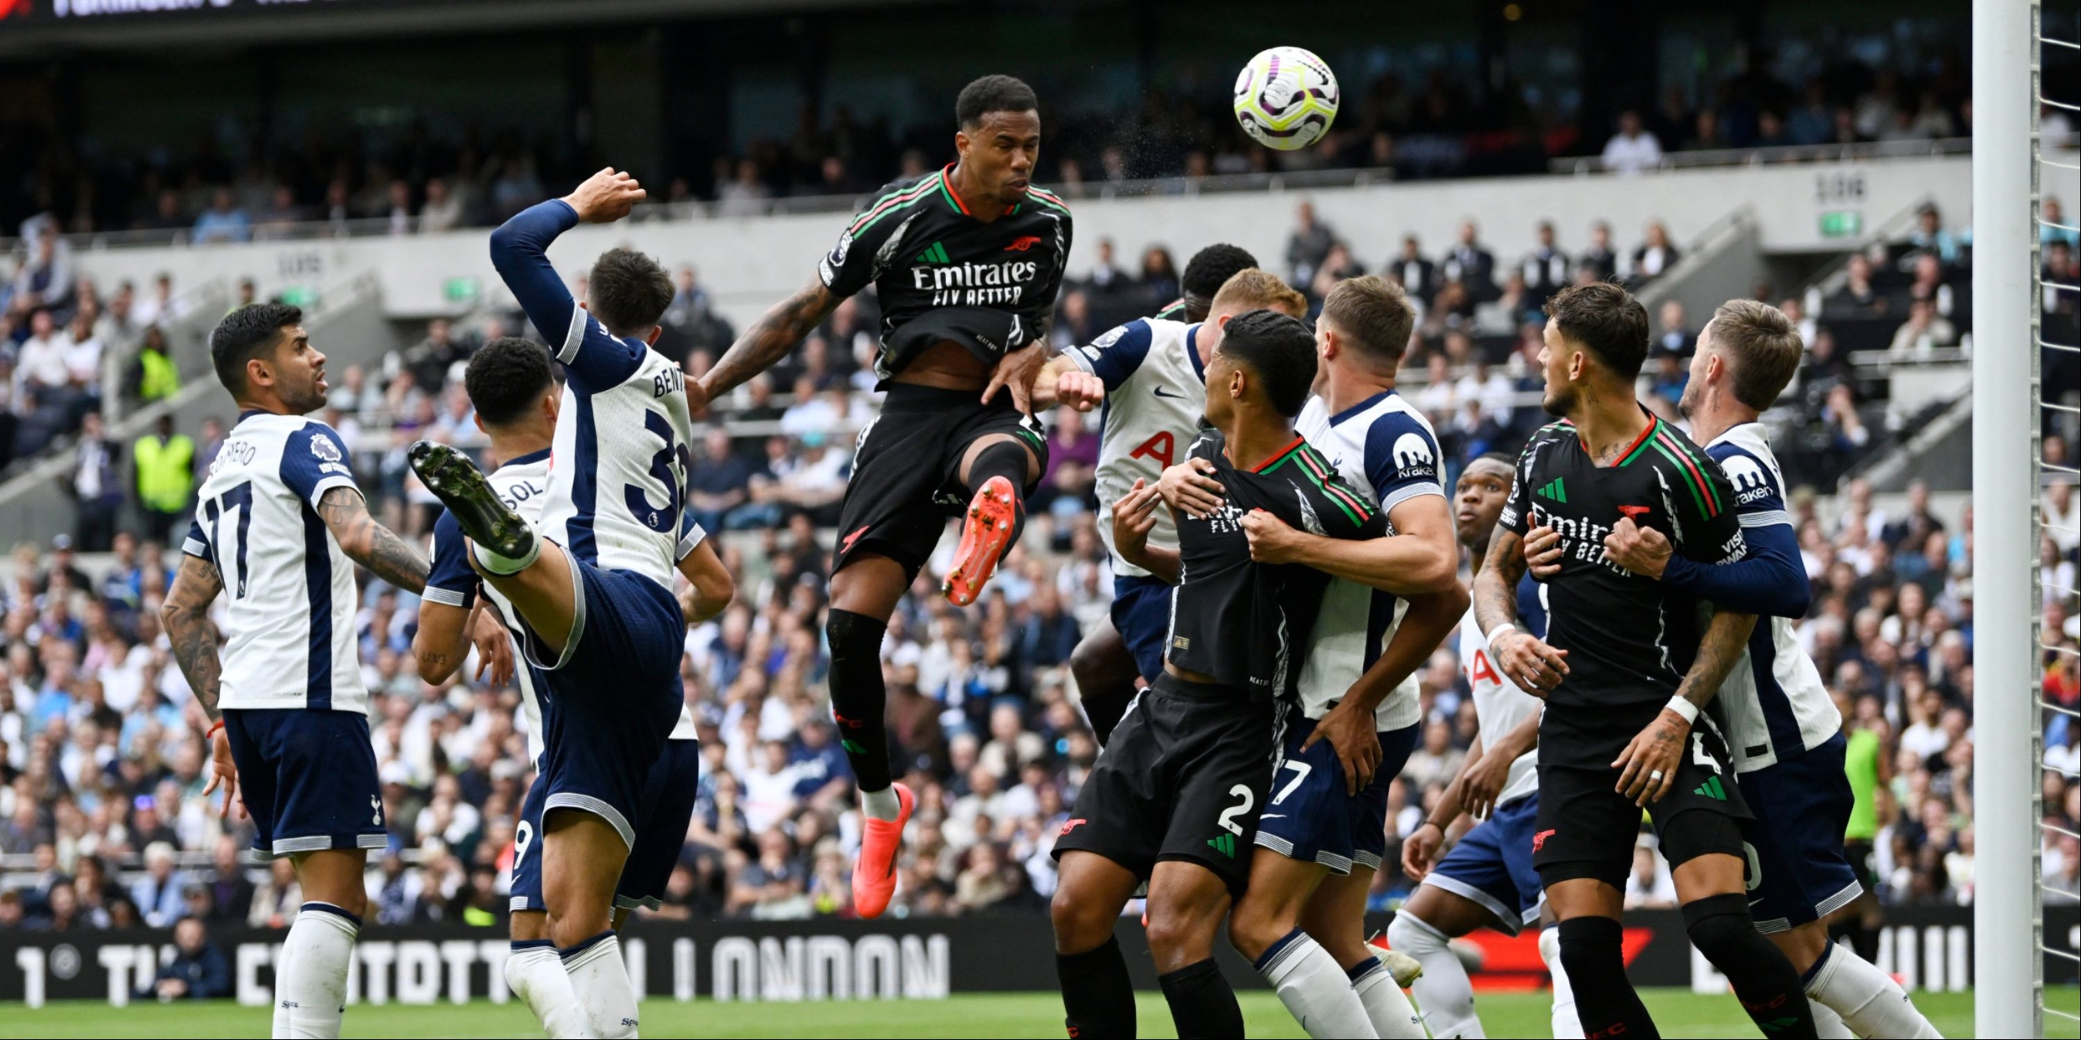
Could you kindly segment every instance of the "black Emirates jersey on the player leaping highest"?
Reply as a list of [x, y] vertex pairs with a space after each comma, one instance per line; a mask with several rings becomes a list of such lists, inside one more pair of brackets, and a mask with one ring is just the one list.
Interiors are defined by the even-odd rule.
[[[984, 223], [953, 189], [951, 173], [882, 187], [816, 268], [841, 297], [874, 285], [882, 310], [874, 370], [882, 379], [939, 339], [995, 364], [1038, 339], [1055, 308], [1070, 258], [1070, 208], [1030, 187], [1026, 200]], [[924, 314], [934, 314], [930, 337], [897, 335]]]

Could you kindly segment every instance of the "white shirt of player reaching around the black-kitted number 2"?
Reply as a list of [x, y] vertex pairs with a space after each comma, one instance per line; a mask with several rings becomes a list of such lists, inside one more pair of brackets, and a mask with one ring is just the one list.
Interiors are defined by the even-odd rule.
[[[1330, 414], [1321, 397], [1311, 397], [1294, 420], [1294, 433], [1307, 437], [1334, 466], [1338, 476], [1380, 503], [1382, 514], [1423, 495], [1444, 497], [1438, 476], [1438, 435], [1430, 420], [1394, 391], [1380, 391], [1353, 408]], [[1392, 520], [1388, 530], [1392, 535]], [[1340, 701], [1359, 676], [1380, 659], [1394, 639], [1394, 628], [1409, 614], [1409, 601], [1367, 584], [1330, 578], [1321, 618], [1301, 666], [1301, 709], [1321, 718]], [[1417, 705], [1417, 676], [1394, 686], [1373, 711], [1380, 732], [1415, 726], [1423, 718]]]

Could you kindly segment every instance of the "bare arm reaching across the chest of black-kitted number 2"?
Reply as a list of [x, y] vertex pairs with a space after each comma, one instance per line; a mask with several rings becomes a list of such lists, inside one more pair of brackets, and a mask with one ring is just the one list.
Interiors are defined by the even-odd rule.
[[1411, 597], [1446, 593], [1459, 584], [1459, 539], [1453, 535], [1446, 499], [1438, 495], [1409, 499], [1396, 505], [1388, 520], [1394, 524], [1394, 535], [1367, 541], [1309, 535], [1267, 512], [1244, 516], [1242, 530], [1251, 539], [1251, 560], [1259, 564], [1301, 564]]

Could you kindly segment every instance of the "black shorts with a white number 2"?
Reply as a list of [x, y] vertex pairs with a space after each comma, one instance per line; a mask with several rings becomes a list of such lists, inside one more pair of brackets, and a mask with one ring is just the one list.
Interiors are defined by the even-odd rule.
[[1249, 691], [1157, 676], [1076, 795], [1055, 859], [1082, 849], [1142, 880], [1159, 861], [1186, 859], [1242, 892], [1271, 784], [1276, 718]]

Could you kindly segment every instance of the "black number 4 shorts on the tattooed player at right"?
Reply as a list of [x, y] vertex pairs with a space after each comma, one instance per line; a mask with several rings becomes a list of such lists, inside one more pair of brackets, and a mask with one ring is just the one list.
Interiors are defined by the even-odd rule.
[[[1646, 716], [1640, 726], [1607, 722], [1604, 732], [1623, 730], [1623, 736], [1594, 745], [1563, 736], [1548, 747], [1548, 724], [1540, 724], [1540, 815], [1532, 830], [1532, 863], [1542, 886], [1596, 878], [1625, 888], [1640, 836], [1640, 807], [1615, 790], [1619, 770], [1611, 761], [1652, 718]], [[1550, 711], [1546, 720], [1552, 720]], [[1677, 757], [1669, 795], [1646, 809], [1671, 867], [1711, 853], [1746, 857], [1742, 826], [1754, 817], [1729, 761], [1719, 730], [1700, 718], [1690, 747]]]

